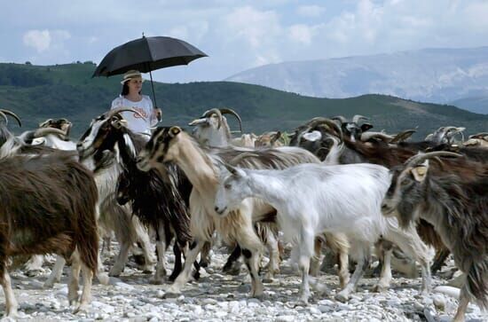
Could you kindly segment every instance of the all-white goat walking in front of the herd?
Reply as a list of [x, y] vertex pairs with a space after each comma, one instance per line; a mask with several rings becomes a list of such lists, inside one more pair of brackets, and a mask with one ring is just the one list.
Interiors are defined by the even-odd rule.
[[[382, 216], [381, 205], [390, 186], [389, 170], [374, 164], [324, 166], [301, 164], [283, 170], [238, 169], [220, 181], [215, 210], [221, 216], [240, 207], [242, 200], [259, 198], [276, 208], [285, 238], [294, 244], [294, 257], [303, 272], [301, 300], [310, 296], [309, 268], [314, 239], [325, 232], [342, 232], [350, 255], [358, 262], [349, 283], [335, 297], [347, 301], [369, 264], [370, 249], [381, 237], [397, 244], [422, 263], [422, 292], [430, 285], [428, 250], [414, 227], [398, 228], [396, 219]], [[360, 196], [360, 198], [358, 198]], [[390, 272], [379, 284], [390, 284]], [[320, 287], [319, 291], [323, 291]]]

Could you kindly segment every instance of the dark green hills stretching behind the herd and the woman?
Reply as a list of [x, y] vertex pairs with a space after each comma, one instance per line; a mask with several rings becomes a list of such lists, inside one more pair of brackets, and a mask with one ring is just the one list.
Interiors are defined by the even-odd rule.
[[[34, 128], [47, 118], [66, 117], [75, 124], [74, 137], [79, 137], [121, 90], [121, 76], [91, 78], [94, 69], [91, 62], [56, 66], [0, 64], [0, 108], [19, 114], [25, 124], [22, 130]], [[226, 106], [240, 114], [244, 131], [256, 133], [292, 130], [314, 116], [336, 114], [368, 116], [375, 130], [418, 127], [417, 138], [443, 125], [464, 126], [469, 134], [488, 128], [488, 115], [384, 95], [309, 98], [238, 82], [156, 82], [154, 88], [164, 125], [185, 126], [209, 108]], [[150, 95], [148, 82], [144, 90]]]

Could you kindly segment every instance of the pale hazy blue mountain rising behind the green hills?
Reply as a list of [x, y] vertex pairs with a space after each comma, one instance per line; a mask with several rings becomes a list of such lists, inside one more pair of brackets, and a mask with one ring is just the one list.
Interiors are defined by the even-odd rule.
[[[379, 93], [447, 103], [488, 96], [488, 47], [284, 62], [249, 69], [226, 81], [313, 97], [348, 98]], [[469, 102], [464, 105], [471, 106]], [[488, 114], [488, 105], [477, 106], [476, 111]]]

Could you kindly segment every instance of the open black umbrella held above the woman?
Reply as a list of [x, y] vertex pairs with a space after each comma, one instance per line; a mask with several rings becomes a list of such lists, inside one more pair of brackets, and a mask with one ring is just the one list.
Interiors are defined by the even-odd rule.
[[171, 37], [146, 37], [124, 43], [108, 52], [91, 77], [121, 75], [131, 69], [149, 73], [154, 94], [151, 71], [178, 65], [188, 65], [194, 59], [207, 57], [190, 43]]

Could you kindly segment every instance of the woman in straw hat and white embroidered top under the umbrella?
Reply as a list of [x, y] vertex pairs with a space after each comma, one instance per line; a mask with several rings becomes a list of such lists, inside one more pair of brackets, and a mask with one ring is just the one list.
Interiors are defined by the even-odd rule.
[[141, 94], [144, 79], [138, 70], [130, 70], [123, 75], [122, 92], [112, 101], [112, 109], [118, 107], [132, 108], [138, 114], [122, 112], [122, 117], [128, 122], [128, 127], [136, 133], [151, 135], [151, 127], [161, 121], [161, 109], [153, 107], [153, 101]]

